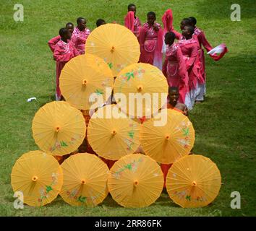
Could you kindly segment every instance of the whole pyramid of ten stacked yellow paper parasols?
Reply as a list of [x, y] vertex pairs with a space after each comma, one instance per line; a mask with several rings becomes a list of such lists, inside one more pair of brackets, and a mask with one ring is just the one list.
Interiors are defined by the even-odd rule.
[[[61, 71], [66, 101], [44, 105], [33, 118], [40, 150], [23, 154], [12, 168], [12, 188], [23, 193], [24, 203], [43, 206], [60, 194], [73, 206], [96, 206], [109, 192], [121, 206], [149, 206], [163, 190], [160, 163], [173, 164], [166, 188], [176, 204], [199, 207], [216, 199], [218, 167], [206, 157], [189, 155], [195, 141], [192, 123], [176, 110], [161, 109], [168, 84], [158, 68], [137, 63], [135, 35], [121, 25], [102, 25], [88, 37], [85, 51]], [[130, 93], [148, 95], [150, 104], [137, 100], [130, 110]], [[155, 100], [155, 94], [163, 97]], [[113, 95], [116, 104], [111, 104]], [[163, 126], [155, 126], [163, 117]], [[85, 141], [96, 154], [76, 153]], [[59, 165], [57, 157], [70, 153]], [[109, 170], [100, 157], [116, 162]]]

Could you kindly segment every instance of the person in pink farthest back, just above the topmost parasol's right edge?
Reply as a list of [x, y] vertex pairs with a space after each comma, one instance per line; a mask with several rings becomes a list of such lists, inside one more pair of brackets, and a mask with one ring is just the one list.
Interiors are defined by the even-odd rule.
[[139, 17], [136, 16], [135, 4], [129, 4], [127, 16], [124, 18], [124, 25], [139, 38], [141, 22]]

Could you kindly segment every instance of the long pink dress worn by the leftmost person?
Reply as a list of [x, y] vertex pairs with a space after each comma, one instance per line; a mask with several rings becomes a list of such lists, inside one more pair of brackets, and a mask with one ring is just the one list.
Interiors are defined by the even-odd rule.
[[74, 48], [72, 41], [65, 43], [62, 40], [56, 44], [54, 49], [54, 60], [56, 60], [56, 96], [61, 97], [61, 90], [59, 88], [59, 77], [61, 75], [61, 70], [64, 68], [65, 64], [75, 56], [80, 53]]

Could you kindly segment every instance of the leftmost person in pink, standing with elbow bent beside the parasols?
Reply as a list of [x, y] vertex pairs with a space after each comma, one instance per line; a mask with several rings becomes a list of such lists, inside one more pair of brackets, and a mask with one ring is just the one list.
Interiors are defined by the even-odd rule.
[[74, 48], [72, 41], [70, 41], [70, 30], [61, 28], [59, 35], [61, 36], [61, 40], [59, 40], [54, 49], [54, 60], [56, 61], [56, 100], [61, 100], [61, 90], [59, 88], [61, 70], [70, 59], [80, 54], [77, 49]]

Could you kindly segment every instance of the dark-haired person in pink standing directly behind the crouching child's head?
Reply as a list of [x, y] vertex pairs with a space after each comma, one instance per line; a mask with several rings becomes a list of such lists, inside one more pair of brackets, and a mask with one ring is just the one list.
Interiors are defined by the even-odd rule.
[[163, 74], [166, 76], [169, 87], [178, 87], [179, 103], [184, 103], [192, 109], [189, 96], [189, 77], [187, 66], [184, 61], [182, 50], [174, 43], [174, 32], [167, 32], [165, 35], [166, 60], [163, 64]]

